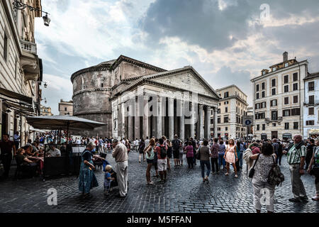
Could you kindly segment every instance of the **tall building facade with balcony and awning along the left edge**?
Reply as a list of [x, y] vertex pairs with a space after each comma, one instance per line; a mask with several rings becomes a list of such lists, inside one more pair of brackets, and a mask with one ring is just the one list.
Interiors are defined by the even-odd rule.
[[[40, 0], [23, 1], [41, 9]], [[24, 145], [33, 134], [25, 116], [40, 115], [42, 61], [38, 58], [34, 21], [41, 13], [13, 9], [13, 1], [0, 1], [0, 127], [1, 135], [15, 131]]]

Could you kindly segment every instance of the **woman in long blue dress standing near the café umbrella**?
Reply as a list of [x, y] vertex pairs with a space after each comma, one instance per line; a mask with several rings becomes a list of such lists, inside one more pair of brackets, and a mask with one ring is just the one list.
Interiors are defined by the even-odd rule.
[[89, 142], [86, 145], [86, 149], [82, 153], [82, 162], [79, 170], [79, 191], [82, 192], [82, 195], [88, 196], [92, 188], [98, 187], [99, 183], [94, 175], [94, 164], [92, 161], [91, 150], [95, 148], [95, 144]]

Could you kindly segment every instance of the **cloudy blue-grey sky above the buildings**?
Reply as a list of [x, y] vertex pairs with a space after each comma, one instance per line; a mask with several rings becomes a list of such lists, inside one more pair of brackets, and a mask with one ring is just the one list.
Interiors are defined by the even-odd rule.
[[252, 105], [250, 79], [289, 59], [319, 71], [318, 0], [43, 0], [35, 19], [45, 106], [72, 99], [72, 73], [120, 55], [174, 70], [191, 65], [213, 89], [235, 84]]

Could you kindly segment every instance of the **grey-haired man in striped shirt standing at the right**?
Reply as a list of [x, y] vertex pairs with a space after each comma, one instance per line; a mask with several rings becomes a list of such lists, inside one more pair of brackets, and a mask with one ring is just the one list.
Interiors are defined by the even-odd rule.
[[304, 174], [303, 166], [305, 165], [306, 158], [306, 146], [303, 145], [301, 135], [293, 135], [293, 143], [285, 153], [287, 155], [287, 162], [290, 165], [293, 192], [293, 198], [289, 199], [289, 201], [308, 201], [305, 187], [303, 187], [303, 182], [301, 181], [301, 175]]

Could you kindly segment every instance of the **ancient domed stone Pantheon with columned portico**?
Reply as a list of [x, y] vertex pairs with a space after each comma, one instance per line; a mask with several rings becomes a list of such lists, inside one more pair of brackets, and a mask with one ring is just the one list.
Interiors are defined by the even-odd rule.
[[82, 135], [129, 140], [217, 135], [220, 98], [191, 66], [164, 70], [121, 55], [74, 72], [71, 81], [74, 116], [106, 123]]

